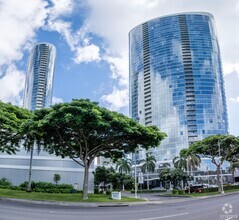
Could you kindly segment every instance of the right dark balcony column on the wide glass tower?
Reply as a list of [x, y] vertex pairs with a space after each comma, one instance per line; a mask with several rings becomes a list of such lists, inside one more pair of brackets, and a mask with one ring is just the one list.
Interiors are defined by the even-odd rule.
[[179, 15], [179, 29], [181, 35], [182, 58], [185, 77], [185, 95], [186, 95], [186, 117], [188, 127], [189, 144], [197, 140], [197, 121], [196, 121], [196, 103], [194, 94], [194, 77], [192, 55], [190, 49], [189, 33], [186, 21], [186, 15]]

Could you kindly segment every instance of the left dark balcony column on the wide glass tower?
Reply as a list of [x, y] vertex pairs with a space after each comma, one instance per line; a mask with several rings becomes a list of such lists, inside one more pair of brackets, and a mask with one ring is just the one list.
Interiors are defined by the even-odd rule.
[[149, 53], [149, 32], [148, 22], [142, 25], [143, 28], [143, 63], [144, 63], [144, 114], [145, 125], [152, 124], [151, 108], [151, 76], [150, 76], [150, 53]]

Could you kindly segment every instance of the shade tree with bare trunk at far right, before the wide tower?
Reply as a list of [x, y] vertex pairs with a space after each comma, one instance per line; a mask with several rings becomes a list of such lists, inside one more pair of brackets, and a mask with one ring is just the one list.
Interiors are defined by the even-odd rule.
[[210, 158], [216, 166], [217, 184], [219, 192], [222, 191], [220, 169], [224, 161], [237, 161], [239, 156], [239, 138], [233, 135], [213, 135], [189, 146], [187, 154], [200, 154]]

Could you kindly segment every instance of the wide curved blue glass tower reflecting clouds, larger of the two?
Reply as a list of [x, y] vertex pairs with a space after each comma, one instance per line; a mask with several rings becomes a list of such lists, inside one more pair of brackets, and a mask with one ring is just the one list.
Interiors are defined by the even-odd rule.
[[227, 134], [220, 48], [209, 13], [163, 16], [129, 33], [130, 116], [167, 134], [158, 161], [209, 135]]

